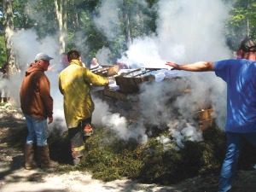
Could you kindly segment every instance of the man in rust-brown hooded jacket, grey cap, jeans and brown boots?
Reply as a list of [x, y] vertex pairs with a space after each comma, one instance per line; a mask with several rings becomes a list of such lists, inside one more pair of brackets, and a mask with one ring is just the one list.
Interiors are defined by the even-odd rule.
[[50, 96], [49, 79], [44, 74], [48, 70], [52, 57], [39, 53], [26, 70], [25, 78], [20, 88], [20, 107], [26, 118], [28, 136], [25, 145], [25, 168], [32, 169], [34, 162], [33, 143], [37, 143], [40, 166], [42, 168], [56, 166], [49, 160], [49, 137], [47, 119], [53, 122], [53, 99]]

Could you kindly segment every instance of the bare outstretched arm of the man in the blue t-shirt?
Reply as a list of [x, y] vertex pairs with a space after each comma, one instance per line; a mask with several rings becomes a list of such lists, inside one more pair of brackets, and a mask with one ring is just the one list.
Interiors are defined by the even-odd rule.
[[184, 70], [190, 72], [208, 72], [214, 71], [213, 61], [199, 61], [191, 64], [178, 65], [177, 63], [167, 61], [166, 65], [173, 67], [172, 70]]

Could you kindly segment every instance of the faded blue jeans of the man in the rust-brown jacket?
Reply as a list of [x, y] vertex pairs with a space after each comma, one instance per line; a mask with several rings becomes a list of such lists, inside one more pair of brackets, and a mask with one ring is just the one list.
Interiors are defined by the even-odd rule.
[[34, 118], [27, 114], [24, 114], [24, 116], [26, 118], [26, 125], [28, 129], [26, 144], [36, 142], [38, 146], [47, 145], [47, 138], [49, 137], [47, 120]]

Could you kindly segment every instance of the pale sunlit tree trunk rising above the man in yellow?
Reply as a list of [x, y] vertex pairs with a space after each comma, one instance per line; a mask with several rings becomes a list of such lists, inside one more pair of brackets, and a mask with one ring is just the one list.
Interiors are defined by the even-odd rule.
[[59, 23], [60, 30], [60, 49], [59, 53], [65, 52], [66, 49], [66, 35], [67, 35], [67, 0], [55, 0], [55, 12]]

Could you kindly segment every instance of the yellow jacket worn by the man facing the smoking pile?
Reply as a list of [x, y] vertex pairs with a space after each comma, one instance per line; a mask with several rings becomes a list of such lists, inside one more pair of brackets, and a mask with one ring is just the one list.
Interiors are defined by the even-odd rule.
[[59, 90], [64, 96], [64, 114], [67, 128], [74, 128], [79, 122], [90, 118], [94, 102], [90, 96], [90, 84], [103, 86], [108, 79], [82, 66], [79, 60], [72, 60], [59, 75]]

